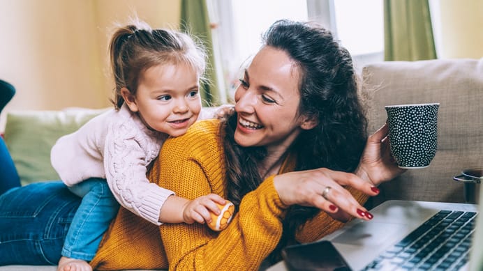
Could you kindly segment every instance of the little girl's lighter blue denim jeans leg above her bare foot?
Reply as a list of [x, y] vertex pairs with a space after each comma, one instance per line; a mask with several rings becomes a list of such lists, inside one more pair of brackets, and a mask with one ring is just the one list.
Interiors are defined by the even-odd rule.
[[119, 203], [105, 179], [90, 178], [69, 189], [77, 196], [82, 196], [82, 203], [70, 224], [62, 256], [91, 261], [103, 234], [117, 215]]

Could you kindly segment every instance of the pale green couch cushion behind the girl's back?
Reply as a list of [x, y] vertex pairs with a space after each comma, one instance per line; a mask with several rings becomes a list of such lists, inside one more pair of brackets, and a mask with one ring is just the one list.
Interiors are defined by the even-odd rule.
[[59, 180], [50, 164], [55, 141], [84, 125], [106, 109], [65, 109], [63, 111], [12, 111], [7, 114], [5, 143], [12, 155], [22, 185]]

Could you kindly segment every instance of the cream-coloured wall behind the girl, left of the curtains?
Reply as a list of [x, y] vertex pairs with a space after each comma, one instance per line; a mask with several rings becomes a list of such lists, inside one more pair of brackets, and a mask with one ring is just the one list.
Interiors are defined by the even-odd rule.
[[0, 115], [25, 109], [109, 107], [107, 43], [114, 22], [137, 15], [178, 26], [179, 0], [0, 0], [0, 79], [17, 94]]

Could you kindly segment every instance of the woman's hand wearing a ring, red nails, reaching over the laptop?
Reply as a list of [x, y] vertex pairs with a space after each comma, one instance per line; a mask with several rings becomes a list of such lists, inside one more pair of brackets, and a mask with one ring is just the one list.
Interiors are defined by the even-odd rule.
[[275, 189], [285, 205], [313, 206], [325, 210], [339, 220], [347, 218], [343, 216], [343, 212], [366, 220], [372, 219], [373, 215], [342, 185], [354, 187], [369, 196], [375, 196], [379, 192], [376, 187], [353, 173], [325, 168], [294, 171], [274, 177]]

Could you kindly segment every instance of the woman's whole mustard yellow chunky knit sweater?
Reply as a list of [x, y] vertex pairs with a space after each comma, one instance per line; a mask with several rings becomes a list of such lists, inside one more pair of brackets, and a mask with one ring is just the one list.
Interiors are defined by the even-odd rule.
[[[168, 139], [149, 180], [188, 199], [209, 193], [225, 197], [219, 123], [199, 121], [183, 136]], [[289, 157], [281, 172], [292, 171], [294, 164]], [[367, 199], [349, 190], [358, 201]], [[163, 269], [168, 263], [170, 270], [257, 270], [281, 238], [286, 208], [274, 176], [244, 196], [239, 212], [220, 233], [198, 223], [156, 226], [121, 208], [91, 265], [98, 270]], [[318, 240], [342, 225], [320, 212], [297, 233], [297, 240]]]

